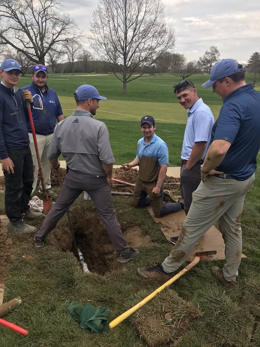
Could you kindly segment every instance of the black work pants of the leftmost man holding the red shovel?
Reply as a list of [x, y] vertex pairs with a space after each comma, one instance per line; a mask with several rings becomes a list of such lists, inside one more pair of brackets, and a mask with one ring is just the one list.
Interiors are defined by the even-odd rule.
[[33, 160], [30, 147], [7, 150], [14, 163], [14, 173], [5, 175], [5, 210], [9, 220], [19, 219], [29, 209], [33, 189]]

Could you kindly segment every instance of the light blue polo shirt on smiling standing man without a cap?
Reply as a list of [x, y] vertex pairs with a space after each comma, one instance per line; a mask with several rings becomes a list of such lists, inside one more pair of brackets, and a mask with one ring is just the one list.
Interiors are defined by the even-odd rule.
[[191, 109], [187, 110], [187, 114], [188, 120], [183, 138], [181, 159], [188, 160], [190, 158], [195, 142], [206, 141], [206, 148], [201, 157], [201, 159], [204, 159], [214, 124], [213, 114], [201, 98], [194, 103]]

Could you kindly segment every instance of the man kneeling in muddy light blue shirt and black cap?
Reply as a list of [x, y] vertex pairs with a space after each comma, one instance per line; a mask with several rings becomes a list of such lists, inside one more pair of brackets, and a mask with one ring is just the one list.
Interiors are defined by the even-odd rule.
[[163, 181], [165, 179], [168, 160], [168, 146], [156, 136], [155, 121], [152, 116], [141, 119], [141, 131], [144, 137], [137, 144], [136, 158], [129, 164], [122, 164], [124, 170], [139, 165], [138, 177], [133, 191], [132, 204], [135, 207], [151, 205], [155, 217], [180, 211], [183, 203], [163, 204]]

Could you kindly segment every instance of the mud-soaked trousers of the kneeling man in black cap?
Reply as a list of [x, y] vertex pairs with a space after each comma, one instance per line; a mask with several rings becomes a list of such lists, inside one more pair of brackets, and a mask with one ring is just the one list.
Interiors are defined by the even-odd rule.
[[134, 207], [145, 207], [151, 205], [155, 217], [163, 217], [166, 214], [181, 210], [181, 204], [174, 202], [163, 204], [163, 184], [158, 197], [152, 196], [152, 191], [156, 186], [157, 181], [145, 182], [137, 178], [136, 185], [133, 190], [132, 204]]

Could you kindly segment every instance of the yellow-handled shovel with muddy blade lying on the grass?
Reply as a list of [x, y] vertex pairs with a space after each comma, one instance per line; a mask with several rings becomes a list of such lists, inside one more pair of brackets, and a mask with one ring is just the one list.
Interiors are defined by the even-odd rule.
[[136, 312], [138, 308], [144, 306], [148, 301], [150, 301], [157, 293], [160, 293], [164, 288], [170, 286], [173, 282], [175, 282], [178, 278], [180, 278], [185, 272], [188, 272], [190, 269], [193, 268], [193, 266], [197, 265], [200, 260], [208, 260], [212, 261], [216, 259], [216, 251], [207, 251], [207, 252], [197, 252], [195, 254], [194, 260], [187, 265], [184, 269], [182, 269], [180, 272], [178, 272], [175, 276], [173, 276], [170, 280], [165, 282], [161, 287], [157, 288], [153, 293], [148, 295], [145, 299], [140, 301], [138, 304], [130, 308], [128, 311], [122, 313], [120, 316], [115, 318], [112, 322], [109, 324], [109, 328], [113, 329], [121, 323], [123, 320], [125, 320], [127, 317], [129, 317], [132, 313]]

